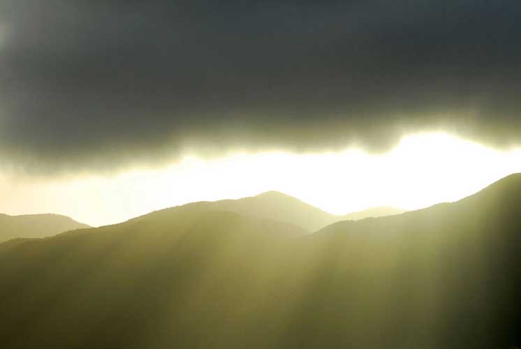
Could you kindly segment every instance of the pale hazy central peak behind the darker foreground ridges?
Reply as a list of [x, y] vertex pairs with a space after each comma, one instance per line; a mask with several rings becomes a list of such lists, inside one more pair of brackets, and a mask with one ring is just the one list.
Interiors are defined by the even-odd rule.
[[235, 212], [243, 216], [273, 219], [276, 221], [291, 223], [299, 225], [309, 232], [314, 232], [337, 221], [388, 216], [404, 212], [404, 210], [392, 207], [379, 207], [337, 216], [277, 191], [268, 191], [260, 195], [238, 200], [194, 202], [189, 205], [205, 207], [206, 209], [217, 211]]

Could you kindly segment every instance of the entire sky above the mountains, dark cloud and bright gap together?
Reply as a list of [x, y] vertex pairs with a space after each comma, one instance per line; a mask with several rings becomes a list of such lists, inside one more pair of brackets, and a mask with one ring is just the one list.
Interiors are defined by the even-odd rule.
[[[443, 177], [451, 189], [439, 197], [378, 197], [369, 188], [402, 188], [385, 172], [414, 167], [367, 163], [423, 135], [430, 150], [401, 159], [459, 154], [439, 171], [473, 163], [478, 172], [453, 175], [480, 185], [517, 171], [520, 16], [512, 0], [0, 0], [0, 211], [99, 225], [264, 189], [338, 213], [450, 200], [471, 191], [466, 181]], [[468, 144], [494, 155], [468, 161]], [[287, 163], [307, 190], [281, 174], [212, 179]], [[311, 175], [320, 168], [349, 168], [351, 181]], [[145, 195], [151, 178], [170, 199]], [[353, 194], [356, 178], [367, 191]]]

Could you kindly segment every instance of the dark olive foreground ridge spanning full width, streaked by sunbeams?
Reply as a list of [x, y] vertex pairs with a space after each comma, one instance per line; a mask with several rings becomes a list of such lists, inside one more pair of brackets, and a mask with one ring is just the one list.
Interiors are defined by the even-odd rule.
[[302, 237], [194, 204], [0, 244], [0, 348], [510, 348], [520, 193]]

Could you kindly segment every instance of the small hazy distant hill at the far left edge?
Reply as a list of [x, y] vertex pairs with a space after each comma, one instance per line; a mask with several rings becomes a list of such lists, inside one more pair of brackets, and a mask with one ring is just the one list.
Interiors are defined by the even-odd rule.
[[17, 237], [48, 237], [67, 230], [90, 228], [59, 214], [8, 216], [0, 214], [0, 242]]

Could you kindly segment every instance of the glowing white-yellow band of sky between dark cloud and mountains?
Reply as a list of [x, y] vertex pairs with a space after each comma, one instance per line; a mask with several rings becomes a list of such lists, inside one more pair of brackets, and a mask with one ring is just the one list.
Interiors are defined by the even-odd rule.
[[16, 198], [31, 197], [31, 212], [52, 211], [101, 225], [186, 202], [270, 190], [334, 214], [379, 206], [418, 209], [459, 200], [513, 172], [521, 172], [520, 150], [498, 151], [446, 133], [420, 133], [404, 137], [386, 154], [358, 149], [323, 154], [244, 152], [213, 160], [186, 157], [168, 168], [129, 170], [110, 178], [29, 185], [19, 181], [14, 186], [9, 181], [5, 192], [10, 201], [1, 200], [0, 211], [27, 213], [27, 200]]

